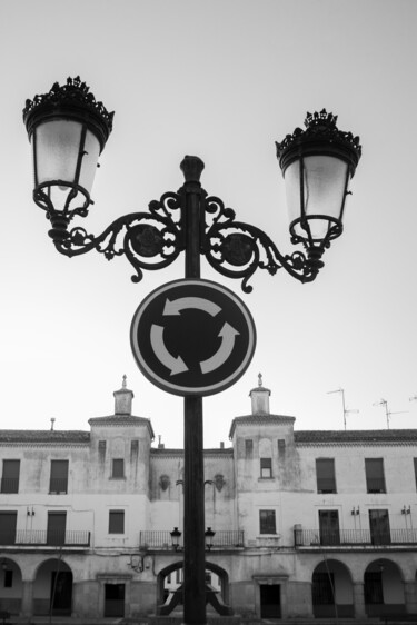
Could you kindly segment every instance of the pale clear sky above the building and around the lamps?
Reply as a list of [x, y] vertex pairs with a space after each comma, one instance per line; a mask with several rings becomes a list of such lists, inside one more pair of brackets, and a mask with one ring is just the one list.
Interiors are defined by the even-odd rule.
[[[244, 377], [205, 399], [205, 444], [228, 445], [230, 421], [249, 414], [258, 373], [271, 411], [297, 429], [416, 427], [415, 198], [417, 2], [415, 0], [0, 0], [2, 98], [0, 385], [2, 428], [88, 429], [113, 411], [122, 375], [133, 414], [166, 446], [182, 446], [182, 398], [140, 374], [131, 318], [157, 286], [183, 277], [183, 259], [135, 285], [127, 260], [90, 252], [69, 260], [31, 199], [27, 98], [80, 75], [115, 110], [87, 219], [113, 219], [182, 185], [186, 153], [206, 163], [201, 182], [237, 218], [292, 252], [274, 141], [307, 111], [338, 115], [359, 135], [345, 232], [317, 280], [258, 270], [239, 295], [257, 327]], [[398, 413], [398, 414], [394, 414]], [[157, 442], [156, 442], [157, 443]]]

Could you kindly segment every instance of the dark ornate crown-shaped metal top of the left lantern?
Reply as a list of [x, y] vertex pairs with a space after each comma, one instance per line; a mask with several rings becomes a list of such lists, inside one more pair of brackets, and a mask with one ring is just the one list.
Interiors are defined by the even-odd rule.
[[48, 93], [26, 100], [23, 121], [29, 137], [33, 129], [51, 119], [77, 119], [85, 121], [100, 142], [101, 151], [112, 130], [115, 112], [97, 101], [90, 88], [79, 76], [67, 78], [64, 85], [54, 82]]

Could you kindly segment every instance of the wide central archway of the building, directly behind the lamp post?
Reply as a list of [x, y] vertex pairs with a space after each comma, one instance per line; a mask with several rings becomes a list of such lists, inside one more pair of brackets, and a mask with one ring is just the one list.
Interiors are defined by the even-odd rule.
[[[182, 612], [182, 562], [163, 568], [157, 578], [157, 614]], [[229, 607], [229, 575], [220, 566], [206, 562], [207, 612], [231, 616]]]

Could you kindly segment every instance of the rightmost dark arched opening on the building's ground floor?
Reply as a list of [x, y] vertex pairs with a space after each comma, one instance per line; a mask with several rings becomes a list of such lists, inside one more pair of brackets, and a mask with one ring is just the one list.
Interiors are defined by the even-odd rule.
[[364, 594], [368, 616], [406, 612], [401, 572], [389, 559], [380, 558], [369, 564], [364, 575]]

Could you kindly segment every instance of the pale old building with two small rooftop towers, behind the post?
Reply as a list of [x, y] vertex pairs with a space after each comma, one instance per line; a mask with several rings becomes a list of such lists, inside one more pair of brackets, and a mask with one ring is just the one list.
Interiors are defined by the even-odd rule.
[[[183, 454], [113, 395], [86, 431], [0, 430], [0, 609], [180, 611]], [[209, 611], [417, 613], [417, 430], [297, 431], [269, 395], [205, 449]]]

